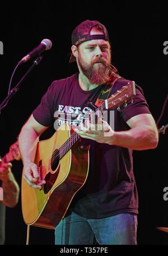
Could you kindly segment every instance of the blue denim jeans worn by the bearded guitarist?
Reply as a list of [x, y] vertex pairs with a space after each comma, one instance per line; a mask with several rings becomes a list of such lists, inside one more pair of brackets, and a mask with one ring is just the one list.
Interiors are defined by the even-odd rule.
[[137, 244], [137, 215], [121, 213], [87, 219], [72, 212], [55, 227], [57, 245]]

